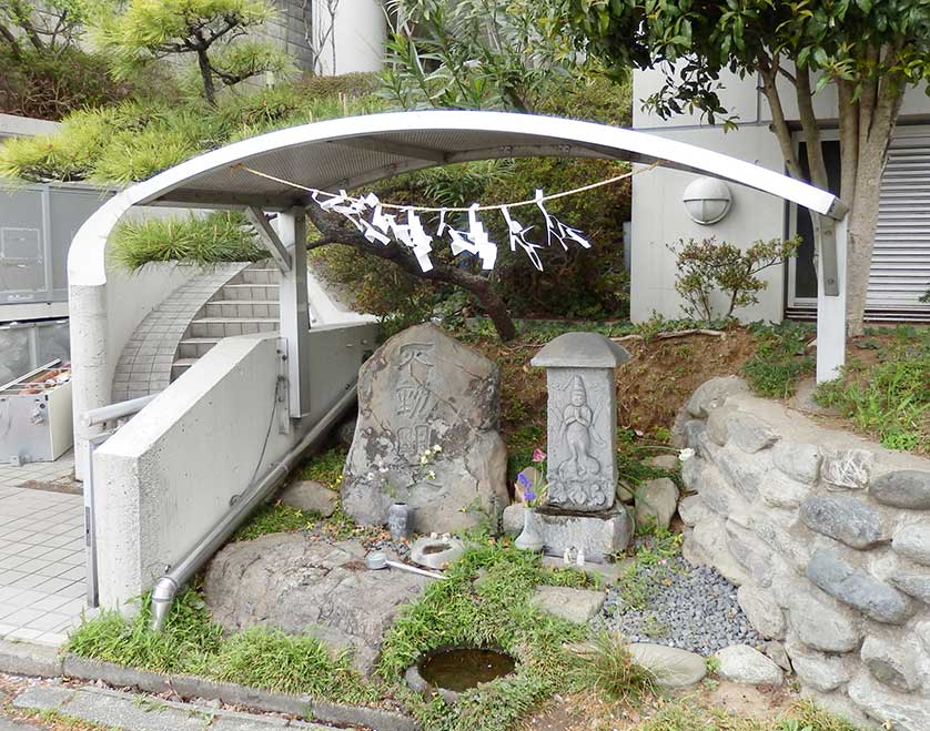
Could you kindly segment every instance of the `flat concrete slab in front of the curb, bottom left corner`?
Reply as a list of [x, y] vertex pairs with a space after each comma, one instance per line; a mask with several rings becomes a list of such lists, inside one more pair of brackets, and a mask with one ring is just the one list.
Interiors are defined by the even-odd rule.
[[271, 731], [282, 728], [336, 731], [330, 725], [287, 720], [276, 714], [228, 711], [91, 686], [32, 686], [13, 700], [13, 705], [122, 731], [203, 731], [206, 728], [211, 731]]

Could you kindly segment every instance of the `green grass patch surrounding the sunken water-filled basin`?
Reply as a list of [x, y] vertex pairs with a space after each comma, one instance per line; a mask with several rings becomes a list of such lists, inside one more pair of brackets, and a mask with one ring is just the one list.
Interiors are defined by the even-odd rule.
[[[394, 683], [425, 729], [509, 729], [544, 699], [578, 684], [582, 660], [564, 644], [585, 640], [587, 628], [535, 609], [529, 600], [537, 585], [586, 586], [590, 579], [539, 562], [506, 542], [477, 542], [444, 581], [431, 583], [402, 611], [385, 637], [377, 672]], [[514, 654], [514, 673], [463, 693], [454, 705], [404, 693], [403, 672], [424, 652], [463, 644]]]

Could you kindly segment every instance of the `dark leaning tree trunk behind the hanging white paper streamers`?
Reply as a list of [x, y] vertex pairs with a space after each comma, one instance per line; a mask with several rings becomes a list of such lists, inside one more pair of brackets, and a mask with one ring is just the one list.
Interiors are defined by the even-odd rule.
[[356, 230], [334, 223], [335, 219], [332, 215], [325, 214], [315, 204], [311, 204], [307, 207], [307, 216], [316, 230], [323, 234], [323, 238], [314, 242], [311, 246], [312, 248], [319, 248], [326, 244], [345, 244], [365, 254], [394, 262], [405, 272], [423, 280], [443, 282], [462, 287], [475, 296], [482, 309], [491, 318], [491, 322], [494, 323], [494, 329], [497, 331], [497, 335], [502, 341], [512, 341], [516, 337], [517, 328], [511, 317], [507, 304], [494, 292], [491, 282], [485, 277], [477, 276], [457, 266], [448, 266], [441, 263], [435, 264], [431, 271], [423, 272], [416, 258], [407, 254], [401, 245], [388, 244], [387, 246], [382, 246], [381, 244], [373, 244]]

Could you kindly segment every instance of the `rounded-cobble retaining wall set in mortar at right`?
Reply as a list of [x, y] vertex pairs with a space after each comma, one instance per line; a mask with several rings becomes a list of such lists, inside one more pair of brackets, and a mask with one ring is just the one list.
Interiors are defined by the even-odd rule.
[[686, 412], [686, 558], [739, 585], [806, 694], [855, 721], [930, 729], [930, 460], [735, 377], [700, 386]]

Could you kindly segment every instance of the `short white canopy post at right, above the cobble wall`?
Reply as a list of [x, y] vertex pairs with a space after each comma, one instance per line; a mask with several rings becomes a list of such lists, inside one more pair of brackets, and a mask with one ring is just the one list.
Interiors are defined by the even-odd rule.
[[847, 216], [821, 219], [817, 242], [817, 383], [840, 377], [846, 363]]

